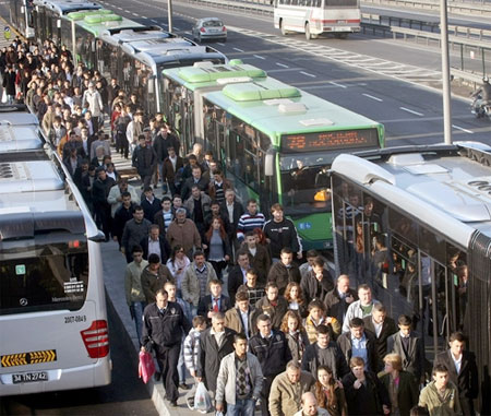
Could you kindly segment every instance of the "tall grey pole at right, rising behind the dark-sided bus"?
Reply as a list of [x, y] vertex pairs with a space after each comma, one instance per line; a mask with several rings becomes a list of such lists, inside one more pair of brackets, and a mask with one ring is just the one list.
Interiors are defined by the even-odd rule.
[[[170, 1], [170, 0], [169, 0]], [[442, 82], [443, 82], [443, 131], [446, 144], [452, 144], [452, 106], [450, 87], [450, 58], [448, 58], [448, 16], [446, 0], [440, 0], [440, 33], [442, 49]]]

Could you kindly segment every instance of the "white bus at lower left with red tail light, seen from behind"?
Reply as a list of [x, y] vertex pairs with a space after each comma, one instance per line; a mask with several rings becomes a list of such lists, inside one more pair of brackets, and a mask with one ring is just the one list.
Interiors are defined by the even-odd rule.
[[0, 396], [109, 384], [104, 235], [37, 119], [0, 112]]

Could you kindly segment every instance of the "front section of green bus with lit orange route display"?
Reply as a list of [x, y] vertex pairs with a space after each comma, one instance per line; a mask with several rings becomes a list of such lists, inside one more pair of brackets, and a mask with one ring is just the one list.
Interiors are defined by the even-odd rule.
[[384, 128], [275, 79], [204, 92], [203, 136], [247, 200], [285, 207], [304, 250], [332, 247], [327, 171], [339, 153], [380, 148]]

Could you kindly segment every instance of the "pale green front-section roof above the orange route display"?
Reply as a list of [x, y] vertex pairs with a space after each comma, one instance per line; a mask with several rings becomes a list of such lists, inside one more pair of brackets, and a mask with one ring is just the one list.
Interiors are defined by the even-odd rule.
[[382, 128], [367, 117], [272, 78], [230, 84], [205, 94], [205, 98], [270, 135], [277, 146], [283, 134]]

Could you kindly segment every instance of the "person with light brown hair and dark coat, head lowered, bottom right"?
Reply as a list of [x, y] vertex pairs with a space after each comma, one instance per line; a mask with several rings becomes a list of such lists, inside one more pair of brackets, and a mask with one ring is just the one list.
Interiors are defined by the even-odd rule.
[[410, 372], [403, 371], [403, 359], [398, 354], [387, 354], [384, 364], [385, 369], [379, 378], [391, 399], [391, 415], [409, 416], [418, 404], [416, 379]]

